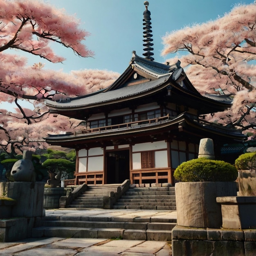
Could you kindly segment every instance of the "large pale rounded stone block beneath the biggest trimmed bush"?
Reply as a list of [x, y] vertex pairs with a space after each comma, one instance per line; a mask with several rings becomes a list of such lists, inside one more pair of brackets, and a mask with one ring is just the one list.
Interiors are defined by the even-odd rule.
[[222, 225], [216, 197], [236, 196], [236, 182], [177, 182], [177, 225], [217, 228]]

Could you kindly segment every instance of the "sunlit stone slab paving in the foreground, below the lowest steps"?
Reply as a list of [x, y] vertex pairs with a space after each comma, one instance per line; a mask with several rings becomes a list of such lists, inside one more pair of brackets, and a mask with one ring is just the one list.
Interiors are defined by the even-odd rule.
[[0, 243], [0, 256], [170, 256], [171, 242], [99, 238], [29, 238]]

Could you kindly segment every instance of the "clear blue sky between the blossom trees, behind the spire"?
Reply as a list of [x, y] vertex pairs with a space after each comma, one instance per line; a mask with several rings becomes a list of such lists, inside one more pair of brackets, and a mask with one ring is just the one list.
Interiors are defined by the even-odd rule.
[[[45, 0], [69, 14], [76, 14], [81, 28], [91, 36], [85, 41], [94, 51], [94, 58], [81, 58], [65, 47], [54, 47], [64, 56], [61, 64], [45, 63], [45, 68], [62, 69], [64, 72], [81, 69], [112, 70], [122, 73], [128, 67], [132, 51], [139, 56], [143, 51], [144, 0]], [[166, 32], [182, 29], [186, 25], [215, 20], [229, 12], [235, 4], [249, 4], [253, 0], [149, 0], [149, 11], [153, 30], [154, 58], [164, 62], [168, 57], [160, 56], [163, 49], [162, 36]], [[170, 57], [170, 56], [169, 56]], [[42, 59], [31, 59], [29, 63]]]

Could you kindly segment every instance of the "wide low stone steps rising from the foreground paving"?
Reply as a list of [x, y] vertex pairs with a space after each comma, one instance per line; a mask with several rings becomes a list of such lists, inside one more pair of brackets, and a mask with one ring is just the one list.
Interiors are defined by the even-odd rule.
[[[88, 213], [92, 211], [87, 210]], [[170, 211], [108, 211], [92, 216], [83, 215], [83, 210], [73, 215], [45, 216], [38, 223], [39, 227], [32, 229], [32, 237], [171, 241], [176, 218]]]

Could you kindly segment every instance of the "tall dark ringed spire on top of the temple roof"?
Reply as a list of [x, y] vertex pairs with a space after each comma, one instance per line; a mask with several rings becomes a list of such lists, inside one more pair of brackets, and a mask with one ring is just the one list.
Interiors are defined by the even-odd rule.
[[153, 35], [150, 34], [150, 33], [152, 33], [152, 30], [151, 30], [152, 27], [151, 27], [151, 22], [150, 22], [150, 20], [151, 20], [150, 11], [148, 11], [148, 5], [149, 5], [148, 1], [145, 1], [144, 5], [146, 5], [146, 10], [143, 13], [143, 26], [144, 26], [143, 27], [143, 29], [144, 29], [144, 31], [143, 31], [143, 37], [144, 37], [143, 46], [145, 46], [145, 48], [143, 49], [145, 51], [143, 56], [145, 56], [146, 59], [153, 61], [154, 58], [152, 57], [152, 55], [154, 55], [154, 53], [151, 51], [153, 51], [153, 49], [154, 49], [152, 47], [154, 44], [152, 43], [153, 38], [151, 38]]

